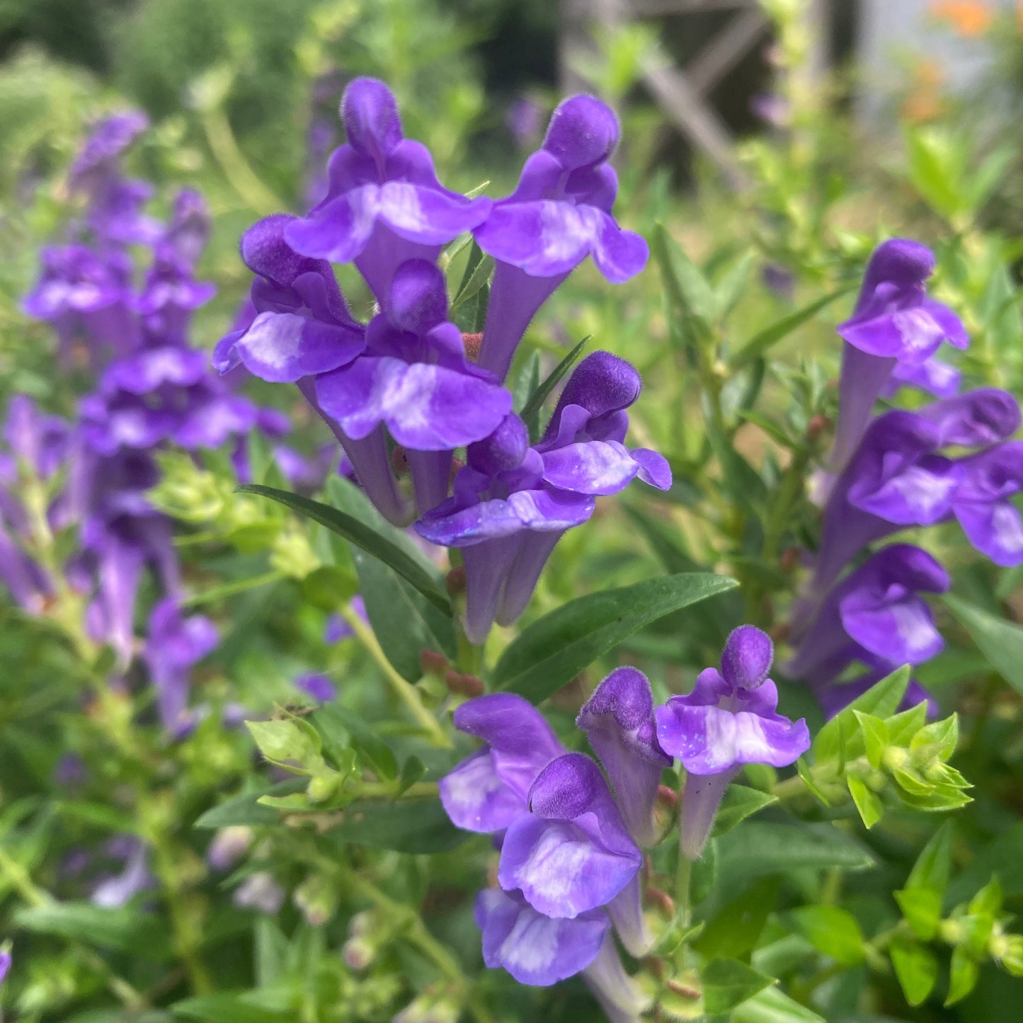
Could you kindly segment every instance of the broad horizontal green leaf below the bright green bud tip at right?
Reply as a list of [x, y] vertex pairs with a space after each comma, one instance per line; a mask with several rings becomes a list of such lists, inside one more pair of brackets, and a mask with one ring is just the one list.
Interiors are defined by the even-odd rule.
[[804, 869], [865, 871], [874, 865], [874, 856], [833, 825], [750, 820], [717, 843], [721, 877], [729, 883]]

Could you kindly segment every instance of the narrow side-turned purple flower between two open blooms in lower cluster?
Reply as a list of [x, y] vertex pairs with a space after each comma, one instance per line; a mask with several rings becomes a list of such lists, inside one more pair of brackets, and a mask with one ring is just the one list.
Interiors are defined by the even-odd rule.
[[671, 757], [657, 742], [647, 676], [636, 668], [616, 668], [583, 705], [576, 724], [611, 779], [629, 834], [641, 846], [653, 845], [654, 800]]

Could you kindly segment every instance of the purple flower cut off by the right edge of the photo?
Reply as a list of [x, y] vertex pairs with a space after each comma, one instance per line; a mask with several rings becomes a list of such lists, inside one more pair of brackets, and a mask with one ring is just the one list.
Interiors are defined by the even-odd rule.
[[1023, 491], [1023, 441], [964, 459], [952, 511], [970, 542], [995, 565], [1023, 564], [1023, 523], [1012, 498]]

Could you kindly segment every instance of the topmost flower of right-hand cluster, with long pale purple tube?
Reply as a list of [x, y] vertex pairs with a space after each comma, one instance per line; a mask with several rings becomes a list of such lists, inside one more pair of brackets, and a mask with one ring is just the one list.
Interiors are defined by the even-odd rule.
[[853, 315], [838, 327], [845, 345], [832, 452], [836, 472], [852, 456], [897, 365], [926, 363], [944, 341], [957, 348], [969, 344], [959, 317], [927, 297], [925, 281], [933, 272], [933, 253], [907, 238], [884, 241], [871, 257]]

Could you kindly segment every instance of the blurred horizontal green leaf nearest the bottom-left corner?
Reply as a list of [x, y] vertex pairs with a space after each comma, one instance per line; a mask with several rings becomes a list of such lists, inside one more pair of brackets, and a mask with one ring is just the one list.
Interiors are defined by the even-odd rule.
[[13, 919], [16, 927], [35, 934], [131, 952], [152, 963], [173, 955], [164, 922], [146, 910], [106, 908], [91, 902], [46, 902], [18, 909]]

